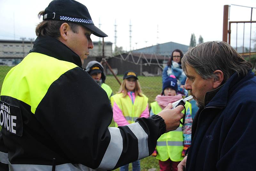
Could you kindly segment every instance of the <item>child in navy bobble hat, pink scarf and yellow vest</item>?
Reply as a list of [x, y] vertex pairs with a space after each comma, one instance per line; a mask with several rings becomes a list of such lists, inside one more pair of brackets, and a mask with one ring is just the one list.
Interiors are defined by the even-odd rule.
[[[156, 102], [151, 103], [150, 115], [157, 115], [169, 103], [180, 100], [182, 95], [177, 94], [177, 90], [177, 79], [174, 75], [170, 75], [164, 80], [161, 95], [157, 95]], [[159, 160], [160, 171], [177, 171], [178, 164], [184, 158], [185, 151], [191, 144], [191, 104], [186, 102], [185, 108], [185, 124], [183, 126], [180, 124], [175, 131], [164, 133], [157, 140], [156, 159]]]

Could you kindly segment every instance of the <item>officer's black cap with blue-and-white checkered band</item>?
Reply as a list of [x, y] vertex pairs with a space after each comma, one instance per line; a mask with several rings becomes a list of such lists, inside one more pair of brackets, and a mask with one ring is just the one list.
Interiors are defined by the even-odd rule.
[[89, 14], [88, 9], [83, 4], [74, 0], [53, 0], [44, 10], [43, 20], [60, 20], [76, 24], [81, 24], [92, 31], [98, 37], [108, 35], [96, 27]]

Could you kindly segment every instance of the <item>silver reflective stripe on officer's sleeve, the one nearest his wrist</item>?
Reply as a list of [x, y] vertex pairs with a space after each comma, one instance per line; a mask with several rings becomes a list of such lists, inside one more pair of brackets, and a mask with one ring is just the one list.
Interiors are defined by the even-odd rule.
[[148, 157], [148, 134], [144, 131], [144, 129], [140, 126], [138, 122], [132, 123], [127, 126], [138, 139], [138, 160], [144, 157]]

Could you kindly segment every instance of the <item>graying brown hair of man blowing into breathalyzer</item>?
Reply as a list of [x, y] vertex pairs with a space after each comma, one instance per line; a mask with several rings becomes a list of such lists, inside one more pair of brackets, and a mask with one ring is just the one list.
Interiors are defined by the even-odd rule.
[[221, 70], [224, 74], [223, 82], [226, 82], [234, 73], [245, 76], [252, 68], [250, 62], [245, 61], [232, 46], [223, 41], [205, 42], [189, 49], [181, 59], [181, 66], [185, 73], [187, 73], [187, 65], [193, 67], [203, 79], [217, 80], [218, 77], [213, 72]]

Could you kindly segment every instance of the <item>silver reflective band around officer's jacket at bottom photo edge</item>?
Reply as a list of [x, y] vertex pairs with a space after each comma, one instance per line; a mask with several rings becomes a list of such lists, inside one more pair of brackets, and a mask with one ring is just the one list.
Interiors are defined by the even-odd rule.
[[[10, 164], [9, 163], [9, 170], [10, 171], [50, 171], [52, 170], [52, 166], [49, 165], [32, 165], [32, 164]], [[56, 165], [55, 171], [95, 171], [90, 167], [86, 167], [82, 164], [62, 164]]]

